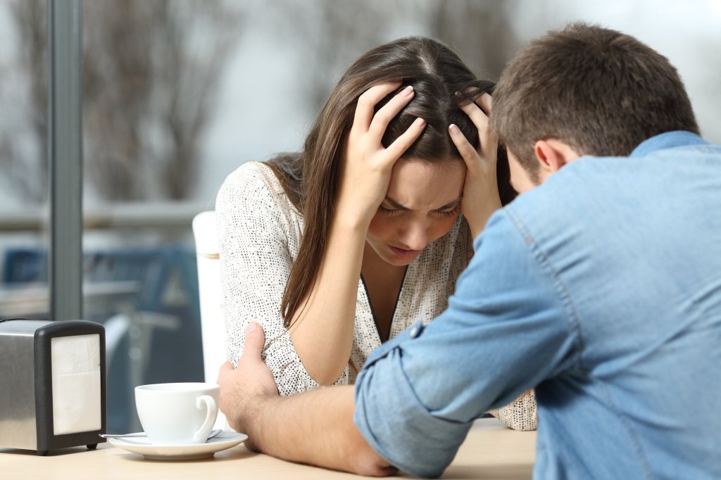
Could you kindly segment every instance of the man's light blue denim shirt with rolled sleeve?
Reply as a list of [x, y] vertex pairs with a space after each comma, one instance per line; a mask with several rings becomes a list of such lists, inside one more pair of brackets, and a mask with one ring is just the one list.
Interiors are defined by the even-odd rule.
[[721, 479], [721, 147], [658, 135], [497, 211], [446, 310], [368, 359], [355, 424], [438, 476], [528, 388], [536, 479]]

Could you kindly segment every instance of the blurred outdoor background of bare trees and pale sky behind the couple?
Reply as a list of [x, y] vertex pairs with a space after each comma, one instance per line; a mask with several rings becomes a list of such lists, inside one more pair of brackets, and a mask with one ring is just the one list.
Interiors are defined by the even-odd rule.
[[[47, 10], [0, 0], [0, 319], [48, 318]], [[721, 0], [84, 1], [84, 316], [107, 330], [108, 431], [138, 429], [134, 386], [203, 380], [193, 216], [239, 164], [297, 151], [355, 58], [426, 35], [497, 79], [574, 20], [666, 55], [721, 142]]]

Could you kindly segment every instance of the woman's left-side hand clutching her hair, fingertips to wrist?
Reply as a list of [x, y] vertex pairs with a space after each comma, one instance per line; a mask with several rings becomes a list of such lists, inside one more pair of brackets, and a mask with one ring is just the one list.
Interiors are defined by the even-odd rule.
[[393, 165], [425, 127], [425, 120], [418, 118], [388, 148], [381, 144], [389, 122], [413, 98], [412, 86], [390, 99], [375, 115], [373, 110], [400, 84], [397, 81], [371, 87], [358, 97], [355, 107], [353, 126], [343, 148], [336, 211], [340, 218], [358, 226], [367, 228], [386, 195]]

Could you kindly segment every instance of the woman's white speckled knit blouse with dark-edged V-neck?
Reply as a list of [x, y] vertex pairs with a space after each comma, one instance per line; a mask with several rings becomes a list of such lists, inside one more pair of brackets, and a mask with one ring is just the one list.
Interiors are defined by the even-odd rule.
[[[265, 332], [263, 360], [275, 377], [281, 395], [318, 388], [293, 348], [283, 326], [280, 301], [298, 254], [303, 216], [269, 166], [242, 164], [218, 192], [218, 240], [221, 256], [223, 312], [227, 355], [233, 365], [242, 355], [245, 326], [257, 321]], [[459, 216], [451, 231], [429, 244], [407, 267], [389, 337], [395, 337], [417, 320], [433, 320], [446, 309], [456, 279], [473, 254], [472, 238]], [[358, 369], [381, 345], [363, 281], [358, 281], [355, 331], [350, 362], [335, 381], [355, 381]], [[533, 392], [490, 413], [516, 430], [536, 428]]]

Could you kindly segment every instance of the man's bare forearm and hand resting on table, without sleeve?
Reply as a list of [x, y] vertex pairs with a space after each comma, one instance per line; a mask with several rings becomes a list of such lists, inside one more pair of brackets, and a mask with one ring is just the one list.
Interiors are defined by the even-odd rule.
[[393, 474], [396, 469], [353, 424], [353, 387], [279, 396], [273, 374], [260, 360], [264, 341], [260, 325], [250, 323], [238, 368], [226, 362], [218, 376], [221, 411], [231, 427], [248, 435], [246, 445], [289, 461], [368, 476]]

